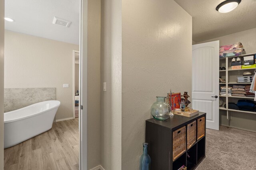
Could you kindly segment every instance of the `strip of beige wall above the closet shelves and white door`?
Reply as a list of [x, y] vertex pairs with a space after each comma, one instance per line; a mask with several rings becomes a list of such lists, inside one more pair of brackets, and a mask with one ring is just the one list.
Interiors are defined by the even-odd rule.
[[206, 41], [198, 42], [196, 44], [206, 43], [206, 42], [216, 41], [216, 40], [220, 40], [220, 45], [226, 45], [226, 44], [236, 43], [236, 42], [240, 41], [243, 44], [244, 49], [247, 54], [256, 53], [256, 48], [255, 48], [255, 46], [256, 46], [256, 28], [248, 29], [248, 30], [241, 31], [238, 33], [225, 35], [222, 37], [217, 37], [214, 39], [209, 39]]

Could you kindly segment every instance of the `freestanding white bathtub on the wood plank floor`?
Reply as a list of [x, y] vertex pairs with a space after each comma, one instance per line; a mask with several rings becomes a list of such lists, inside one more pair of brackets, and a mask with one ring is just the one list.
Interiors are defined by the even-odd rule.
[[4, 113], [4, 148], [50, 130], [59, 106], [59, 101], [48, 100]]

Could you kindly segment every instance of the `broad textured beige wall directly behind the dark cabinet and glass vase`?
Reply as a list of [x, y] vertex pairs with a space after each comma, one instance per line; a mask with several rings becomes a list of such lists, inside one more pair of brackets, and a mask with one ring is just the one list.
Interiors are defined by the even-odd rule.
[[191, 96], [192, 17], [174, 0], [122, 1], [122, 170], [138, 170], [156, 96]]

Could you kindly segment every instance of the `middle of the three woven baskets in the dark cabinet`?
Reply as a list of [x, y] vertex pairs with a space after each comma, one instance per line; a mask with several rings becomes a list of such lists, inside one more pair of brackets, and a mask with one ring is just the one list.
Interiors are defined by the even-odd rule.
[[190, 149], [196, 142], [196, 121], [188, 123], [187, 125], [187, 149]]

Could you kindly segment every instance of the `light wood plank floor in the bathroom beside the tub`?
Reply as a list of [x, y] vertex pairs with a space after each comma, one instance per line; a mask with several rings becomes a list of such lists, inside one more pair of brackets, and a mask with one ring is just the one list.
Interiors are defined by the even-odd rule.
[[78, 118], [4, 149], [4, 170], [78, 170]]

